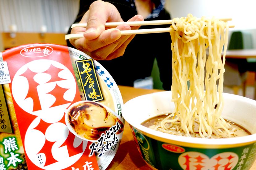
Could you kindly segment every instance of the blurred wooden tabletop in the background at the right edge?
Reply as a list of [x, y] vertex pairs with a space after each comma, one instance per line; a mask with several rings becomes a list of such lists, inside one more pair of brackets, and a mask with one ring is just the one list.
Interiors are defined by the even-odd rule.
[[256, 58], [256, 49], [227, 50], [226, 58]]

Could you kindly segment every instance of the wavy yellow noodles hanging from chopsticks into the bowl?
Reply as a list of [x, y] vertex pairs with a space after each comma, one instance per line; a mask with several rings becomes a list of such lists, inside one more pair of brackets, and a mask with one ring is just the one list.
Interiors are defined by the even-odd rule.
[[174, 18], [170, 27], [173, 51], [171, 91], [175, 109], [154, 129], [170, 133], [171, 128], [178, 124], [176, 131], [171, 133], [183, 136], [197, 133], [202, 138], [210, 138], [213, 134], [230, 137], [231, 124], [221, 117], [227, 22], [188, 14], [187, 17]]

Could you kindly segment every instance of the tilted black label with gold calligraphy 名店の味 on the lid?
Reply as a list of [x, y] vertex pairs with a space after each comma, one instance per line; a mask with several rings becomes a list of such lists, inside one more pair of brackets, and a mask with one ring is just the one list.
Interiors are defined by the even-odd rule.
[[86, 100], [103, 100], [92, 59], [75, 61]]

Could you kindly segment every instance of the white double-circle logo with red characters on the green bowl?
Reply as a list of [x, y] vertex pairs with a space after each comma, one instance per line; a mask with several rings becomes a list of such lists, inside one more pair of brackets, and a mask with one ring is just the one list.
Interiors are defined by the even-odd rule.
[[232, 170], [237, 165], [238, 156], [234, 152], [223, 152], [209, 158], [200, 152], [184, 152], [179, 156], [178, 162], [182, 169]]

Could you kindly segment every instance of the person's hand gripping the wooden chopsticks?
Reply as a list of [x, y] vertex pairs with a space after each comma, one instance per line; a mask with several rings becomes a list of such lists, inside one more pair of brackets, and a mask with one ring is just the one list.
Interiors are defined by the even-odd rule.
[[[135, 15], [129, 21], [143, 21], [143, 17]], [[84, 38], [70, 39], [70, 43], [95, 60], [111, 60], [122, 56], [135, 35], [121, 35], [120, 30], [135, 30], [139, 29], [139, 26], [121, 24], [105, 30], [106, 22], [123, 20], [113, 4], [104, 1], [93, 2], [80, 21], [87, 23], [87, 28], [75, 27], [71, 30], [71, 34], [84, 33]]]

